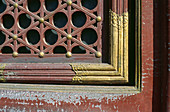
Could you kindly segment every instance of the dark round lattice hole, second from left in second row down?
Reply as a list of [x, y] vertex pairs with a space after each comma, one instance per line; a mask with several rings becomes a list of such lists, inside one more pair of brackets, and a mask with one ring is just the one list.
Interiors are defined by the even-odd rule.
[[28, 14], [21, 14], [19, 16], [19, 25], [21, 28], [28, 28], [31, 24], [31, 18]]

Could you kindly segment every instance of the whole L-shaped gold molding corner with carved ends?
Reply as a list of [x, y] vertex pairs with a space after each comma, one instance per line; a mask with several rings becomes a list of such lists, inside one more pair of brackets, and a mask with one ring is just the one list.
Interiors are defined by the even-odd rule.
[[110, 10], [111, 65], [71, 63], [76, 74], [72, 79], [73, 83], [128, 83], [128, 24], [128, 12], [118, 15]]

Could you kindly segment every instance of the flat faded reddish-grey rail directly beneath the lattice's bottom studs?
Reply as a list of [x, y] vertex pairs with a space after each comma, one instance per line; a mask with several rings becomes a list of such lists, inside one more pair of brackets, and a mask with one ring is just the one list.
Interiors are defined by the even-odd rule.
[[101, 58], [96, 58], [95, 56], [72, 56], [71, 58], [66, 58], [64, 55], [54, 55], [53, 57], [44, 56], [40, 58], [37, 56], [18, 56], [14, 58], [12, 55], [0, 55], [0, 63], [101, 63]]

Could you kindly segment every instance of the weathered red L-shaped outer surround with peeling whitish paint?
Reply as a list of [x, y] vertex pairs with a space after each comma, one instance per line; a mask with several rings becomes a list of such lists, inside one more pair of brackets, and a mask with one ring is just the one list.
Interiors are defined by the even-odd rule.
[[153, 93], [153, 0], [142, 0], [142, 92], [138, 94], [0, 91], [0, 111], [151, 112]]

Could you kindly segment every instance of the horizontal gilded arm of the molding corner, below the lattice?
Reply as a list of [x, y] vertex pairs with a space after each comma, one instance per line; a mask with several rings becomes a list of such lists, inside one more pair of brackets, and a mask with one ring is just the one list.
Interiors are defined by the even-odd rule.
[[[97, 82], [93, 83], [102, 83], [103, 81], [111, 81], [109, 78], [111, 76], [120, 76], [120, 74], [114, 70], [111, 65], [108, 64], [70, 64], [75, 76], [72, 78], [73, 83], [92, 83], [91, 81]], [[96, 78], [95, 78], [96, 77]], [[114, 83], [114, 82], [110, 82]]]

